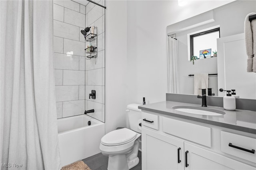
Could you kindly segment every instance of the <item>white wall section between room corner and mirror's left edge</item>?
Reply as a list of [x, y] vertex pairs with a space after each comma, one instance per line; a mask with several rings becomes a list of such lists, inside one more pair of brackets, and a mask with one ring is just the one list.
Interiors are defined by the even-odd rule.
[[166, 99], [167, 39], [172, 1], [127, 2], [127, 104]]

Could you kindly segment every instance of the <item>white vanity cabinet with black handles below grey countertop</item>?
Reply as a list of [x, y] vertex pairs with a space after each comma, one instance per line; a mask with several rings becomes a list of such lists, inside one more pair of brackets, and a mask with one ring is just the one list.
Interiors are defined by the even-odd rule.
[[[221, 136], [226, 132], [219, 130], [217, 134], [222, 135], [216, 136], [212, 134], [214, 127], [153, 112], [142, 112], [143, 119], [148, 121], [142, 121], [142, 170], [256, 170], [255, 154], [232, 147], [224, 150]], [[255, 149], [256, 139], [245, 139], [250, 141], [250, 148]], [[247, 155], [242, 158], [252, 163], [246, 164], [240, 159], [242, 154]]]

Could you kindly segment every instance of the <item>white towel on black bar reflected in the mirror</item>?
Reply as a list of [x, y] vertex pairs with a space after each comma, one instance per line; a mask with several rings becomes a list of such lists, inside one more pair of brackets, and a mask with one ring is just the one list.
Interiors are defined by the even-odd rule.
[[194, 74], [194, 94], [202, 94], [199, 88], [208, 88], [208, 73]]

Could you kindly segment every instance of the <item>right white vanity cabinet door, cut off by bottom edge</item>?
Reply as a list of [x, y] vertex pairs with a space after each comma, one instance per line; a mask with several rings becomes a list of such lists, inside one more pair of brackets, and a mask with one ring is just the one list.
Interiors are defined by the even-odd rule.
[[[187, 152], [188, 151], [188, 152]], [[186, 153], [187, 152], [187, 153]], [[187, 156], [186, 156], [187, 155]], [[255, 167], [184, 142], [185, 170], [255, 170]], [[187, 164], [186, 164], [187, 161]], [[186, 167], [187, 166], [187, 167]]]

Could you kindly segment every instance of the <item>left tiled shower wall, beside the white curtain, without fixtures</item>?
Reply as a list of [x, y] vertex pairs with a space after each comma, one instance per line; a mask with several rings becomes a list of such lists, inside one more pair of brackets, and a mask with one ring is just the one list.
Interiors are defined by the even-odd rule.
[[[57, 118], [83, 114], [85, 109], [84, 5], [54, 1], [54, 71]], [[80, 35], [81, 34], [81, 35]]]

